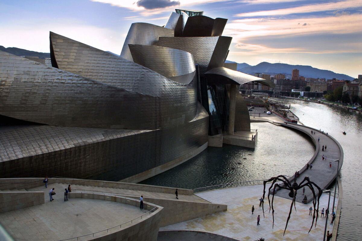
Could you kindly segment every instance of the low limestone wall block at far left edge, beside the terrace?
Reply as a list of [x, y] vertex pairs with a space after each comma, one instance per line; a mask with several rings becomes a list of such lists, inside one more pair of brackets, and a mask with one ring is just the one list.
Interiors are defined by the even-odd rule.
[[0, 213], [43, 203], [43, 191], [0, 191]]

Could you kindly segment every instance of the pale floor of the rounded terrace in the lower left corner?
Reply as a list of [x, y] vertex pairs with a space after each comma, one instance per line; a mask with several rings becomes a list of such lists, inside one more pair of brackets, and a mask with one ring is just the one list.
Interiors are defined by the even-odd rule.
[[[15, 240], [61, 240], [125, 223], [143, 214], [139, 207], [97, 199], [71, 198], [64, 202], [64, 184], [54, 184], [55, 200], [47, 189], [45, 204], [0, 214], [0, 223]], [[104, 233], [103, 233], [104, 234]]]

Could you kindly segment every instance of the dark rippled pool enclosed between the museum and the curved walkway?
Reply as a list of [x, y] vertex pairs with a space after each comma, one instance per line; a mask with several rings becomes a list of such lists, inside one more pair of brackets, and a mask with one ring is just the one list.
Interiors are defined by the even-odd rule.
[[255, 150], [226, 144], [208, 147], [188, 162], [141, 183], [194, 189], [292, 175], [313, 156], [314, 146], [303, 134], [270, 123], [252, 123], [252, 129], [258, 129], [260, 140]]

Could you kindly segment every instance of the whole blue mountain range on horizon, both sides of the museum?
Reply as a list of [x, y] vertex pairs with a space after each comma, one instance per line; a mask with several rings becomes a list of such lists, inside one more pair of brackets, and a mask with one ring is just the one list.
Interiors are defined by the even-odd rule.
[[[22, 48], [15, 48], [15, 47], [5, 48], [4, 46], [0, 46], [0, 50], [18, 56], [38, 56], [39, 59], [50, 58], [50, 53], [35, 52], [30, 50], [24, 50]], [[226, 60], [226, 63], [236, 63], [236, 62]], [[291, 64], [281, 64], [281, 63], [271, 64], [268, 62], [262, 62], [260, 64], [252, 66], [247, 63], [237, 63], [238, 71], [252, 75], [254, 75], [255, 73], [264, 73], [270, 75], [282, 73], [285, 74], [286, 78], [291, 78], [292, 69], [299, 69], [299, 75], [307, 78], [326, 78], [326, 79], [336, 78], [336, 79], [345, 79], [345, 80], [354, 79], [353, 77], [348, 76], [346, 74], [337, 74], [330, 70], [317, 69], [308, 65], [291, 65]]]

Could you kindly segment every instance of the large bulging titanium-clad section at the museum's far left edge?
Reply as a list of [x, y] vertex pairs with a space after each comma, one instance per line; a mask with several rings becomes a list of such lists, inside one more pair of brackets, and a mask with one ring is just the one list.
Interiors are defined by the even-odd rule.
[[0, 115], [48, 125], [136, 130], [159, 126], [156, 97], [3, 51], [0, 73]]

